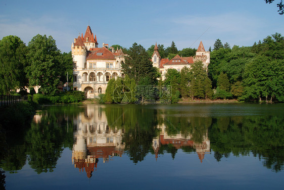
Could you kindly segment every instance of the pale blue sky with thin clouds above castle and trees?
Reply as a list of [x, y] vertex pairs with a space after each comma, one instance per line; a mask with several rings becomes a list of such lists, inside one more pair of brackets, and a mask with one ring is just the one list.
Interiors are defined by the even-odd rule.
[[223, 43], [251, 46], [275, 32], [284, 35], [284, 15], [275, 0], [209, 1], [13, 1], [0, 0], [0, 39], [17, 35], [26, 44], [36, 34], [51, 35], [62, 52], [89, 24], [102, 43], [125, 48], [134, 42], [147, 50], [174, 41], [177, 49], [206, 50], [217, 38]]

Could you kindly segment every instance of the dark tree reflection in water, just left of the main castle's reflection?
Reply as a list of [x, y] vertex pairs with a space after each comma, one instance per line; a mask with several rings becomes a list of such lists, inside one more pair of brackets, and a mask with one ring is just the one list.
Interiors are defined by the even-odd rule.
[[73, 126], [66, 121], [68, 110], [60, 108], [50, 107], [47, 112], [43, 111], [40, 122], [33, 122], [26, 133], [28, 163], [37, 173], [52, 172], [62, 147], [73, 145]]

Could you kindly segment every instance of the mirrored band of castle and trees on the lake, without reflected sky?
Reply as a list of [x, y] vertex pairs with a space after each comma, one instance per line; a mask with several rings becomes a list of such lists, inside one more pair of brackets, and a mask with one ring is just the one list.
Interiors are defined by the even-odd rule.
[[[50, 106], [25, 130], [1, 133], [1, 168], [17, 173], [29, 165], [53, 172], [65, 148], [76, 171], [91, 177], [112, 159], [159, 163], [170, 154], [193, 154], [204, 165], [210, 153], [224, 158], [257, 157], [280, 172], [284, 163], [284, 113], [279, 105], [86, 105]], [[13, 126], [11, 126], [13, 127]], [[174, 160], [174, 161], [173, 161]], [[155, 162], [156, 163], [156, 162]]]

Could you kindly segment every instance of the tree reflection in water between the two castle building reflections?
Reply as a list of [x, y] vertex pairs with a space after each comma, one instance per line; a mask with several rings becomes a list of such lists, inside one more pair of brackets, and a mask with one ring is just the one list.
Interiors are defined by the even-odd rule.
[[152, 140], [156, 136], [157, 110], [130, 105], [108, 106], [105, 111], [109, 126], [124, 130], [122, 141], [130, 159], [134, 163], [143, 161], [152, 149]]

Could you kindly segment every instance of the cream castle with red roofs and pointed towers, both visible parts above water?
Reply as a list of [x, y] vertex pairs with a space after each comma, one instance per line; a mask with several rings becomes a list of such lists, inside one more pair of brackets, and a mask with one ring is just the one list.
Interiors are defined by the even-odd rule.
[[[71, 51], [73, 58], [73, 88], [85, 92], [86, 98], [94, 98], [100, 93], [105, 93], [108, 81], [111, 78], [123, 77], [121, 64], [124, 62], [122, 50], [103, 43], [98, 48], [97, 36], [87, 26], [85, 35], [79, 34], [72, 43]], [[159, 68], [162, 80], [165, 79], [167, 69], [173, 68], [180, 71], [183, 67], [191, 68], [195, 61], [202, 61], [207, 70], [210, 63], [210, 52], [206, 52], [202, 41], [199, 44], [196, 56], [180, 57], [173, 59], [161, 59], [157, 43], [152, 55], [153, 66]]]

